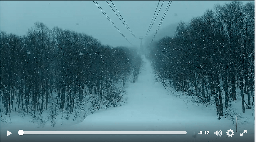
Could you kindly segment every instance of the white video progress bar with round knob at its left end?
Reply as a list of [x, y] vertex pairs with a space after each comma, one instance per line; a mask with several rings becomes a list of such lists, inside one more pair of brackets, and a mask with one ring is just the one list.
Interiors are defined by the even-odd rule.
[[186, 131], [23, 131], [19, 130], [19, 135], [23, 134], [187, 134]]

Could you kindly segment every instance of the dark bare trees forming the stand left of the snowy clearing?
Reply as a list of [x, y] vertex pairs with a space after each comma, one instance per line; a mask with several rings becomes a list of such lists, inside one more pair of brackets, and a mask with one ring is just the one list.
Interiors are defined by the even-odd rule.
[[127, 47], [110, 47], [86, 34], [37, 22], [26, 36], [1, 31], [1, 98], [5, 115], [23, 110], [34, 118], [58, 110], [68, 119], [90, 102], [91, 112], [122, 101], [116, 83], [137, 77], [142, 59]]

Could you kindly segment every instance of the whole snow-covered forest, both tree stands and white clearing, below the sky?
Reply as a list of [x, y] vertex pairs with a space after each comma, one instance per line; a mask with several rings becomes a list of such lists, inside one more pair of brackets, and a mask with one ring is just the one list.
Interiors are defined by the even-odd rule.
[[216, 5], [141, 48], [42, 22], [24, 36], [1, 31], [1, 125], [254, 136], [254, 11], [252, 2]]

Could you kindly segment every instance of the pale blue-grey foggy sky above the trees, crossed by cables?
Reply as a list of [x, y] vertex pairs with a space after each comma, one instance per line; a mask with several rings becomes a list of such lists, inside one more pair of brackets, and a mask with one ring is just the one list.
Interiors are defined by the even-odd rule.
[[[108, 2], [111, 4], [110, 1]], [[133, 45], [139, 46], [138, 37], [145, 36], [158, 1], [112, 2], [137, 38], [126, 29], [106, 1], [97, 1], [122, 34]], [[149, 35], [155, 33], [168, 2], [164, 1]], [[172, 1], [161, 28], [181, 20], [189, 22], [192, 17], [201, 16], [207, 9], [213, 9], [215, 4], [222, 5], [228, 2], [231, 1]], [[159, 7], [161, 3], [162, 1]], [[43, 22], [50, 29], [58, 26], [62, 29], [83, 32], [97, 38], [103, 44], [131, 46], [93, 1], [1, 1], [0, 6], [0, 28], [7, 33], [25, 35], [35, 22]]]

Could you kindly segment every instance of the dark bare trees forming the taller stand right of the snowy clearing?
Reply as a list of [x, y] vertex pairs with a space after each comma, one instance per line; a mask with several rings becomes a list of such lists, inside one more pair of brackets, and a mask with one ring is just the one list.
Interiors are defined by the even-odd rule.
[[181, 22], [174, 38], [162, 38], [151, 48], [149, 57], [164, 87], [192, 93], [206, 107], [213, 97], [218, 116], [223, 105], [228, 108], [229, 100], [237, 99], [238, 88], [242, 111], [253, 106], [254, 3], [216, 5], [188, 25]]

